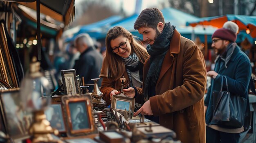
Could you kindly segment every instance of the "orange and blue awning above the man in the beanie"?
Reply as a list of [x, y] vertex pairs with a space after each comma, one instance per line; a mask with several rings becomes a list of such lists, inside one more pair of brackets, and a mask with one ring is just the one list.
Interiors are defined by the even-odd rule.
[[247, 30], [253, 38], [256, 38], [256, 16], [247, 16], [247, 15], [221, 15], [214, 17], [200, 18], [198, 20], [186, 22], [187, 26], [196, 26], [196, 25], [211, 25], [218, 28], [221, 28], [223, 24], [227, 21], [235, 22], [239, 31]]

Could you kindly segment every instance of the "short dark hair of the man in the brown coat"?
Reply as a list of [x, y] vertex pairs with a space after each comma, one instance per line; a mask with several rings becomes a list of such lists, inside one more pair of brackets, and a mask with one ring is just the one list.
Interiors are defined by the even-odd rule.
[[141, 27], [156, 29], [159, 22], [165, 24], [163, 13], [157, 8], [147, 8], [141, 11], [133, 27], [135, 30]]

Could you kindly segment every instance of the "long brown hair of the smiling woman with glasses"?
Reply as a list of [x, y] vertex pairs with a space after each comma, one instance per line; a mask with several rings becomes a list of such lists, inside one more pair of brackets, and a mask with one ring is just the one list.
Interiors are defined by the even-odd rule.
[[124, 75], [124, 71], [126, 70], [124, 62], [119, 55], [111, 51], [110, 46], [110, 41], [121, 35], [128, 37], [131, 41], [131, 52], [134, 52], [138, 56], [140, 62], [144, 63], [148, 58], [149, 55], [146, 49], [132, 37], [132, 33], [122, 26], [115, 26], [108, 31], [106, 36], [106, 57], [103, 60], [100, 77], [111, 77], [116, 81]]

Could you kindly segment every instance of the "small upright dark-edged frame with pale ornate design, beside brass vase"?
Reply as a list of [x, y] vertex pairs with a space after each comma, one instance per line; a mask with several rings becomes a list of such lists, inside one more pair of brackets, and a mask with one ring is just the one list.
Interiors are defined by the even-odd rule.
[[76, 81], [76, 70], [61, 70], [65, 95], [77, 95], [79, 88]]

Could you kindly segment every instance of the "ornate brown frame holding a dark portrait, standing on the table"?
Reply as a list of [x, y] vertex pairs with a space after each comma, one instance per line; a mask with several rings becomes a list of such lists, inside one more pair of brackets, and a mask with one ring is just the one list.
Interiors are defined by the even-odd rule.
[[96, 131], [91, 98], [90, 94], [62, 97], [69, 136], [85, 135]]

